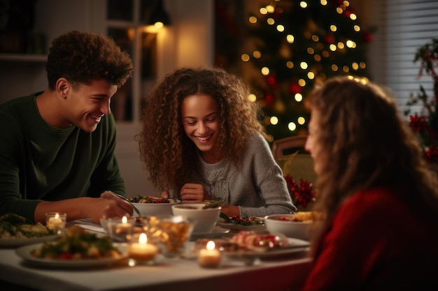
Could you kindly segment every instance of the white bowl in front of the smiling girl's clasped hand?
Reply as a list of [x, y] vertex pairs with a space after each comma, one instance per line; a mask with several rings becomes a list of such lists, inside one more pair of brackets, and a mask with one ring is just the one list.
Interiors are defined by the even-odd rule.
[[174, 216], [186, 216], [195, 223], [193, 234], [211, 233], [219, 219], [221, 207], [206, 208], [204, 203], [178, 204], [172, 206]]

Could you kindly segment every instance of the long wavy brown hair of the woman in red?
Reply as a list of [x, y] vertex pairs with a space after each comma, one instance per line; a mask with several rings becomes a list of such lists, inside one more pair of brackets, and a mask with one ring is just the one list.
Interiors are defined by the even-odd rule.
[[321, 173], [313, 209], [329, 221], [357, 191], [388, 186], [398, 189], [400, 200], [436, 231], [438, 177], [428, 169], [418, 137], [389, 91], [365, 80], [335, 77], [316, 88], [310, 100], [320, 117], [314, 142]]

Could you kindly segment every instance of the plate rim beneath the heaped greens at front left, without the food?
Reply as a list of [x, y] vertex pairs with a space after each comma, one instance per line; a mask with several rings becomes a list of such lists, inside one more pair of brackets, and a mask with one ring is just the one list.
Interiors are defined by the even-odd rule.
[[101, 258], [101, 259], [84, 259], [84, 260], [54, 260], [35, 258], [31, 255], [31, 251], [36, 248], [41, 248], [43, 244], [32, 244], [30, 246], [22, 246], [17, 248], [15, 253], [25, 262], [34, 264], [38, 267], [62, 268], [62, 269], [76, 269], [76, 268], [94, 268], [106, 267], [127, 258], [127, 253], [123, 252], [120, 258]]

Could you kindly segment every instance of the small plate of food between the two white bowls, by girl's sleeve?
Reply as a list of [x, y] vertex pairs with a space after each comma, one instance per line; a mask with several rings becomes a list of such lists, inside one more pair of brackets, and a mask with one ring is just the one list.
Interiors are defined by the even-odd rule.
[[220, 227], [229, 228], [230, 230], [255, 230], [264, 231], [264, 218], [256, 216], [227, 216], [223, 212], [220, 213], [217, 223]]

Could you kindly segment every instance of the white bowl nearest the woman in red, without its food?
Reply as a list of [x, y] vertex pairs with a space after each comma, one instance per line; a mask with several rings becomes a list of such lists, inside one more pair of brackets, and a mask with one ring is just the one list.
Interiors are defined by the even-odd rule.
[[286, 237], [309, 241], [309, 226], [312, 222], [292, 221], [293, 214], [264, 216], [264, 224], [270, 234], [284, 234]]

